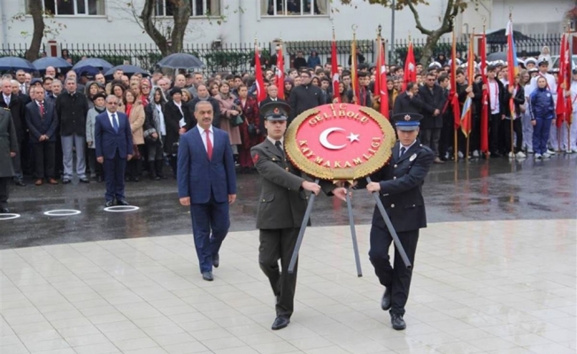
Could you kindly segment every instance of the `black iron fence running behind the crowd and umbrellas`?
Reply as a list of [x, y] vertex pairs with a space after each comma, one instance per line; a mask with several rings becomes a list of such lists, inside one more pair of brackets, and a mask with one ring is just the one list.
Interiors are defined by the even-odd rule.
[[[551, 55], [558, 54], [560, 47], [561, 35], [527, 35], [524, 39], [516, 41], [517, 54], [519, 58], [538, 56], [543, 46], [550, 48]], [[419, 61], [422, 50], [427, 43], [426, 39], [415, 39], [413, 42], [413, 49], [415, 58]], [[337, 41], [337, 61], [340, 65], [345, 67], [350, 66], [350, 44], [351, 41]], [[408, 40], [397, 40], [392, 46], [393, 63], [401, 64], [406, 57], [408, 48]], [[451, 39], [449, 37], [442, 37], [435, 45], [433, 50], [434, 55], [444, 53], [450, 55]], [[262, 55], [265, 59], [270, 58], [274, 51], [275, 42], [261, 42], [258, 43], [258, 48], [261, 49]], [[284, 42], [283, 50], [288, 56], [290, 63], [296, 58], [296, 53], [302, 51], [304, 57], [312, 52], [312, 50], [319, 53], [319, 58], [322, 64], [330, 63], [332, 41], [300, 41], [300, 42]], [[469, 39], [466, 36], [458, 38], [457, 50], [464, 58], [466, 50], [469, 45]], [[153, 43], [146, 44], [112, 44], [112, 43], [59, 43], [60, 50], [68, 50], [69, 56], [73, 62], [81, 60], [81, 58], [103, 58], [109, 61], [112, 65], [131, 64], [142, 67], [146, 70], [153, 70], [156, 63], [162, 58], [157, 46]], [[366, 63], [374, 63], [376, 61], [376, 48], [374, 40], [358, 40], [358, 53], [365, 57]], [[1, 57], [21, 57], [23, 58], [27, 50], [27, 44], [18, 43], [0, 46]], [[42, 52], [47, 48], [42, 46]], [[503, 43], [488, 43], [488, 53], [506, 50]], [[251, 61], [254, 58], [255, 46], [254, 43], [227, 43], [222, 45], [214, 44], [185, 44], [182, 52], [195, 55], [201, 59], [205, 66], [202, 72], [205, 74], [226, 72], [226, 73], [252, 73], [254, 67]], [[285, 67], [288, 63], [285, 64]]]

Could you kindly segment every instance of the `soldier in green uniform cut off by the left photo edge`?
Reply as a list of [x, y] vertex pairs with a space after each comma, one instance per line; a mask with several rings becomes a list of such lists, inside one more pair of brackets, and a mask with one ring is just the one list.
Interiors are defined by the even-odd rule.
[[12, 158], [18, 153], [16, 128], [8, 108], [0, 108], [0, 214], [8, 210], [8, 183], [14, 176]]

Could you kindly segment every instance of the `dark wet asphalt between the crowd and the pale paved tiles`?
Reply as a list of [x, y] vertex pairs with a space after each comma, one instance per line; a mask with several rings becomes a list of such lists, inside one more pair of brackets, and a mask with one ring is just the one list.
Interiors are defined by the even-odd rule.
[[[238, 175], [238, 199], [231, 208], [230, 231], [255, 228], [258, 174]], [[188, 209], [178, 203], [176, 182], [127, 183], [127, 200], [136, 212], [104, 212], [104, 183], [25, 188], [12, 186], [10, 208], [19, 219], [0, 220], [0, 249], [191, 233]], [[575, 219], [577, 155], [535, 162], [491, 159], [434, 165], [424, 186], [430, 223], [466, 220]], [[369, 224], [373, 199], [353, 196], [355, 222]], [[51, 210], [81, 213], [51, 217]], [[282, 217], [282, 216], [279, 216]], [[348, 225], [346, 204], [335, 198], [315, 201], [314, 226]]]

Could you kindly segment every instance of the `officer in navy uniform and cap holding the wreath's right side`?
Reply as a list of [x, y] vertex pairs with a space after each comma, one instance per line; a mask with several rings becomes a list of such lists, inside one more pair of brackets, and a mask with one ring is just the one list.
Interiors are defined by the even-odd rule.
[[[372, 182], [359, 182], [356, 189], [364, 187], [373, 193], [379, 193], [385, 211], [395, 227], [407, 257], [414, 266], [419, 229], [427, 227], [425, 203], [421, 189], [429, 167], [433, 164], [435, 153], [422, 145], [419, 135], [420, 114], [401, 113], [393, 116], [396, 121], [396, 134], [399, 141], [393, 146], [389, 164], [374, 173]], [[395, 265], [389, 262], [389, 247], [393, 238], [385, 225], [381, 212], [375, 206], [371, 227], [371, 249], [369, 258], [379, 281], [385, 287], [381, 299], [381, 308], [390, 310], [393, 328], [400, 330], [404, 323], [404, 305], [409, 296], [412, 268], [404, 266], [395, 247]]]

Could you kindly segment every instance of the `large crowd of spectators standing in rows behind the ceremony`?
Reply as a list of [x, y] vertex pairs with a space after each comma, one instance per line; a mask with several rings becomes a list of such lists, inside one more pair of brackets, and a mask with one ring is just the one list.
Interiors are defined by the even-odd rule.
[[[250, 148], [265, 139], [260, 104], [285, 101], [291, 107], [289, 123], [301, 112], [335, 102], [379, 110], [379, 96], [372, 93], [376, 68], [365, 64], [364, 58], [358, 57], [357, 75], [338, 65], [337, 93], [333, 92], [331, 65], [321, 65], [316, 52], [308, 59], [299, 52], [282, 82], [278, 81], [276, 60], [273, 54], [264, 61], [267, 96], [260, 103], [251, 73], [213, 73], [206, 77], [198, 72], [165, 74], [156, 70], [143, 77], [141, 73], [127, 75], [117, 70], [109, 80], [103, 73], [94, 76], [73, 70], [60, 73], [53, 67], [48, 67], [42, 77], [32, 77], [21, 70], [6, 73], [1, 81], [0, 107], [12, 114], [19, 146], [19, 152], [12, 158], [13, 181], [24, 187], [27, 174], [33, 176], [36, 186], [67, 184], [74, 172], [82, 183], [104, 181], [103, 165], [96, 157], [95, 126], [96, 116], [106, 110], [107, 95], [117, 98], [118, 111], [129, 119], [134, 158], [127, 162], [125, 179], [134, 182], [141, 181], [143, 175], [154, 181], [165, 179], [165, 165], [170, 166], [175, 176], [180, 136], [196, 126], [193, 112], [201, 101], [212, 104], [213, 126], [227, 131], [240, 173], [254, 172]], [[467, 96], [473, 99], [473, 118], [469, 139], [459, 133], [458, 158], [483, 157], [480, 147], [483, 89], [489, 93], [491, 157], [514, 154], [526, 158], [527, 154], [535, 154], [535, 158], [550, 158], [561, 150], [577, 152], [577, 124], [571, 126], [571, 146], [568, 146], [566, 127], [557, 129], [551, 123], [555, 119], [558, 77], [550, 70], [550, 58], [542, 55], [519, 63], [515, 82], [507, 82], [507, 71], [512, 68], [504, 62], [489, 63], [487, 87], [478, 65], [473, 82], [467, 82], [466, 68], [459, 65], [458, 101], [462, 106]], [[455, 155], [450, 61], [440, 55], [428, 67], [417, 64], [416, 68], [416, 81], [404, 82], [403, 67], [388, 66], [389, 116], [401, 112], [422, 114], [419, 139], [435, 152], [435, 163], [443, 163]], [[352, 92], [354, 76], [358, 77], [358, 95]], [[282, 97], [280, 86], [284, 91]], [[573, 101], [577, 97], [577, 71], [573, 71], [571, 88], [565, 88], [564, 92]], [[508, 104], [511, 97], [514, 112], [510, 112]], [[575, 114], [577, 104], [573, 104]], [[513, 119], [512, 125], [508, 119]]]

